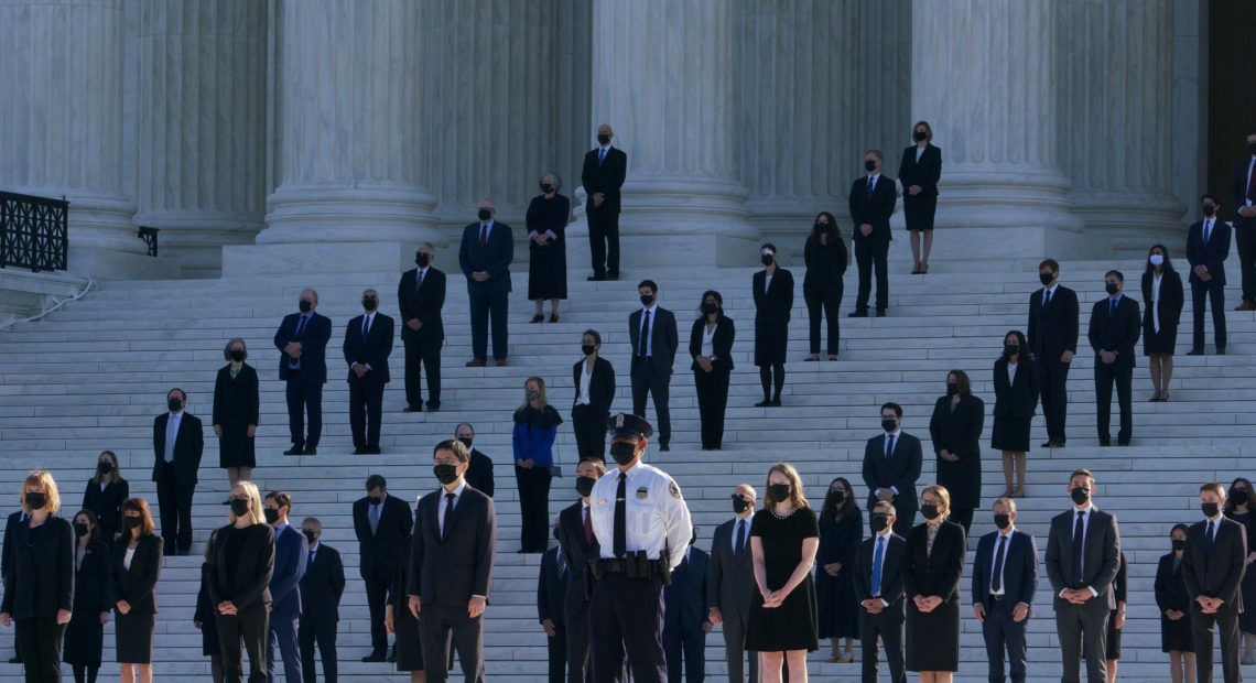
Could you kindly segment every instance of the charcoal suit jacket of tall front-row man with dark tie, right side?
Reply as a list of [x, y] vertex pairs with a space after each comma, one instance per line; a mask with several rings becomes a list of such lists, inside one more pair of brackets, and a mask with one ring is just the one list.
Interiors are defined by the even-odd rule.
[[1076, 508], [1070, 507], [1051, 517], [1051, 531], [1046, 537], [1046, 578], [1055, 591], [1055, 609], [1066, 603], [1060, 598], [1064, 589], [1090, 586], [1099, 594], [1099, 600], [1108, 609], [1117, 609], [1117, 596], [1112, 583], [1117, 579], [1120, 564], [1120, 530], [1117, 517], [1091, 505], [1090, 521], [1086, 524], [1086, 539], [1081, 546], [1080, 578], [1073, 576], [1073, 527], [1076, 522]]

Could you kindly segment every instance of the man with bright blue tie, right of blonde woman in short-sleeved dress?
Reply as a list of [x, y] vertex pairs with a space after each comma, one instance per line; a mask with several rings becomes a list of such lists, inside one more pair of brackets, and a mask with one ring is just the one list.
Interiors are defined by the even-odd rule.
[[873, 536], [859, 544], [854, 574], [863, 679], [877, 680], [877, 639], [880, 638], [891, 683], [907, 683], [903, 672], [903, 556], [907, 541], [893, 531], [896, 511], [892, 503], [878, 501], [868, 519]]

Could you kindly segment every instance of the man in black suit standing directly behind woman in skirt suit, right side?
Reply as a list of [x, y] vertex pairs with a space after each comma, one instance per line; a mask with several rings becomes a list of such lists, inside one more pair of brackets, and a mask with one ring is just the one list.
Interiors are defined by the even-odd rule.
[[1069, 414], [1069, 368], [1078, 353], [1078, 293], [1060, 284], [1060, 264], [1046, 259], [1037, 265], [1042, 289], [1029, 298], [1030, 353], [1037, 365], [1042, 390], [1046, 442], [1042, 448], [1064, 448]]

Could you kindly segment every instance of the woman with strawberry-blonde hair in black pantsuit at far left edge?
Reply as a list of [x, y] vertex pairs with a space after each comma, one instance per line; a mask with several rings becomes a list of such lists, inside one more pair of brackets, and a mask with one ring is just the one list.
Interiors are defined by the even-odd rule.
[[55, 516], [60, 507], [51, 473], [26, 475], [21, 482], [26, 520], [14, 529], [0, 604], [0, 625], [15, 627], [26, 683], [62, 679], [62, 637], [74, 606], [74, 530]]

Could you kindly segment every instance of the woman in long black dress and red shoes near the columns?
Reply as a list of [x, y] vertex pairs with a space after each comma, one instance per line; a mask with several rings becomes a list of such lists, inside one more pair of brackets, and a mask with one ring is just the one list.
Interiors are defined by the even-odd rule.
[[558, 193], [558, 173], [541, 176], [541, 193], [528, 205], [528, 298], [536, 303], [533, 323], [545, 319], [541, 310], [550, 300], [550, 323], [558, 323], [558, 303], [566, 299], [566, 221], [571, 200]]

